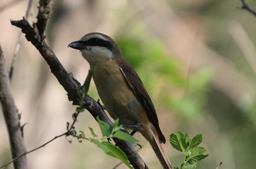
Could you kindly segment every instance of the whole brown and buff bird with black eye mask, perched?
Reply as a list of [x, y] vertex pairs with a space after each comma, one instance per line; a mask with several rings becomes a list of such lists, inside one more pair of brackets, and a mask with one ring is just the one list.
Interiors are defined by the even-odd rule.
[[140, 132], [149, 141], [161, 166], [173, 169], [161, 143], [166, 142], [158, 116], [140, 77], [108, 35], [92, 32], [68, 47], [81, 51], [93, 70], [92, 79], [109, 115], [123, 127]]

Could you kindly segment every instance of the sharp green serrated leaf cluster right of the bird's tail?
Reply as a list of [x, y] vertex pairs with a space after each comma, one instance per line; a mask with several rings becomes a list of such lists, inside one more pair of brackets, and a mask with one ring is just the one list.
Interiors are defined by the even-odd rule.
[[[198, 134], [192, 139], [188, 134], [185, 135], [181, 132], [170, 135], [170, 144], [180, 152], [183, 152], [184, 162], [181, 164], [181, 169], [196, 169], [198, 161], [206, 158], [208, 154], [204, 154], [206, 149], [199, 146], [203, 140], [203, 135]], [[175, 169], [179, 169], [175, 167]]]

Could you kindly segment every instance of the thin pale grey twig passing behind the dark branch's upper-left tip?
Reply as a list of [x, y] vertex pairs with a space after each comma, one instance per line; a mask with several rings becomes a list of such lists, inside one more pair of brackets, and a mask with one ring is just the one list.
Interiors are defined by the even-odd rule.
[[[26, 14], [25, 14], [25, 19], [26, 20], [29, 17], [32, 2], [33, 2], [33, 0], [29, 0], [28, 7], [27, 7], [27, 10], [26, 10]], [[14, 70], [14, 63], [16, 61], [16, 58], [17, 58], [17, 55], [18, 55], [18, 52], [19, 52], [19, 49], [20, 49], [21, 35], [22, 35], [22, 31], [20, 31], [20, 33], [18, 35], [18, 39], [17, 39], [16, 45], [15, 45], [15, 48], [14, 48], [14, 54], [13, 54], [13, 57], [12, 57], [11, 68], [10, 68], [10, 71], [9, 71], [9, 79], [10, 80], [12, 80], [12, 74], [13, 74], [13, 70]]]

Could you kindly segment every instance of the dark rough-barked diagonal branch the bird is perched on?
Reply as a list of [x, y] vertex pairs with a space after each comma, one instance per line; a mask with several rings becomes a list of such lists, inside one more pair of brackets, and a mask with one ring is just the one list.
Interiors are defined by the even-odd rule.
[[[62, 85], [68, 93], [69, 100], [73, 101], [73, 104], [79, 105], [78, 86], [80, 86], [80, 84], [69, 73], [67, 73], [57, 56], [44, 40], [44, 31], [50, 14], [49, 4], [50, 0], [40, 0], [40, 7], [37, 15], [38, 20], [37, 23], [33, 23], [32, 26], [29, 25], [28, 21], [24, 18], [23, 20], [11, 21], [11, 23], [12, 25], [21, 28], [22, 32], [26, 34], [26, 39], [32, 42], [32, 44], [37, 48], [46, 60], [47, 64], [50, 66], [52, 73], [58, 79], [60, 85]], [[42, 11], [42, 9], [45, 11]], [[41, 16], [42, 14], [43, 17]], [[83, 100], [83, 106], [86, 107], [95, 119], [99, 116], [101, 120], [106, 121], [109, 125], [113, 126], [112, 121], [108, 118], [102, 107], [87, 94]], [[146, 164], [129, 142], [116, 138], [114, 141], [116, 145], [125, 152], [129, 162], [135, 169], [147, 169]]]

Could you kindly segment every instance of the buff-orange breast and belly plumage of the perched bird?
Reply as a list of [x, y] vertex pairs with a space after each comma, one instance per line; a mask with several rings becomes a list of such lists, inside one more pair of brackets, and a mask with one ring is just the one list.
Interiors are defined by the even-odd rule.
[[119, 118], [122, 124], [136, 124], [141, 105], [128, 87], [118, 65], [105, 63], [104, 67], [96, 67], [93, 80], [112, 118]]

